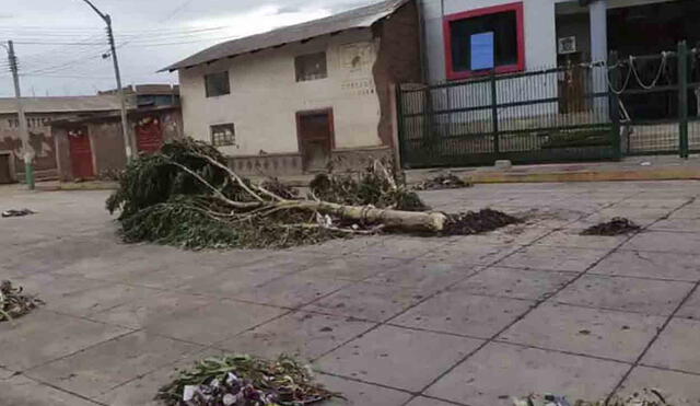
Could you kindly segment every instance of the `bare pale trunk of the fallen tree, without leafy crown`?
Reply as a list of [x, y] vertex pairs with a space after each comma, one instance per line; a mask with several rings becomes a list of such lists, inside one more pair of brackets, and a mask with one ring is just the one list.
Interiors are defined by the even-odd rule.
[[377, 209], [371, 206], [345, 206], [328, 201], [285, 200], [275, 206], [318, 211], [324, 214], [336, 214], [347, 220], [381, 223], [387, 229], [407, 231], [440, 232], [444, 229], [445, 222], [447, 221], [447, 217], [440, 212], [388, 210]]

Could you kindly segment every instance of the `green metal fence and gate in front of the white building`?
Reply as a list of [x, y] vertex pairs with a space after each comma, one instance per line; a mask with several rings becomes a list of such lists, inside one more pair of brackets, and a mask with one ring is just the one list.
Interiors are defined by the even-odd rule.
[[[491, 165], [497, 160], [521, 164], [615, 160], [626, 153], [687, 155], [700, 148], [697, 108], [688, 114], [700, 80], [690, 80], [698, 53], [687, 47], [684, 53], [682, 47], [654, 56], [665, 60], [663, 80], [654, 83], [639, 68], [640, 61], [652, 57], [619, 61], [611, 56], [607, 65], [404, 84], [397, 91], [401, 162], [405, 167], [428, 167]], [[668, 76], [669, 70], [677, 74]], [[681, 77], [688, 80], [678, 80]], [[638, 79], [641, 86], [630, 85]], [[667, 93], [675, 94], [676, 102], [665, 116], [650, 115], [635, 102]], [[682, 142], [689, 147], [684, 149]]]

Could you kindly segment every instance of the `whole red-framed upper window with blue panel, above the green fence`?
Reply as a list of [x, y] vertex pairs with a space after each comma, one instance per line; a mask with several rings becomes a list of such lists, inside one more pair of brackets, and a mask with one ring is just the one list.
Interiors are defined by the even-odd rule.
[[447, 79], [525, 68], [523, 3], [448, 15], [444, 31]]

